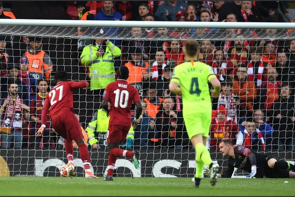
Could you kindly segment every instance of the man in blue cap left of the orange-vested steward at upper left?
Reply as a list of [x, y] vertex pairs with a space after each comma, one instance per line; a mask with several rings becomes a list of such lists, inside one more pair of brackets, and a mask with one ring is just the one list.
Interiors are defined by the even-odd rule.
[[[19, 78], [22, 82], [27, 85], [29, 93], [37, 93], [36, 87], [37, 82], [35, 77], [29, 73], [29, 58], [28, 57], [21, 57], [20, 58], [20, 73]], [[30, 96], [29, 96], [30, 97]]]

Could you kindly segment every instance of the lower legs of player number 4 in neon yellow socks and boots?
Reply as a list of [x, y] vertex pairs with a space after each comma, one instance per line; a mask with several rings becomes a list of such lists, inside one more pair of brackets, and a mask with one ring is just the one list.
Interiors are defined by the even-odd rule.
[[213, 164], [210, 157], [210, 153], [207, 150], [204, 143], [206, 142], [206, 137], [202, 134], [197, 134], [190, 139], [192, 145], [196, 149], [196, 175], [194, 177], [195, 187], [199, 187], [201, 181], [201, 175], [203, 173], [204, 164], [209, 166], [210, 169], [210, 182], [211, 185], [215, 185], [217, 182], [218, 164]]

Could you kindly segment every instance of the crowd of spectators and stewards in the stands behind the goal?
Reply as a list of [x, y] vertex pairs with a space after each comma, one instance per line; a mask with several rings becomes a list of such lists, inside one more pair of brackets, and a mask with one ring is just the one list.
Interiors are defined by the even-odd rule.
[[[278, 8], [289, 16], [282, 1], [148, 1], [137, 4], [90, 1], [77, 2], [76, 6], [78, 20], [277, 22], [282, 20]], [[0, 17], [7, 18], [2, 10], [0, 3]], [[136, 15], [134, 10], [138, 10]], [[115, 39], [119, 33], [116, 28], [102, 28], [101, 35], [112, 32], [110, 39], [83, 41], [76, 58], [81, 68], [85, 68], [90, 81], [87, 95], [93, 96], [93, 102], [101, 102], [105, 87], [115, 81], [121, 65], [129, 68], [128, 83], [137, 88], [142, 98], [140, 123], [134, 131], [130, 129], [122, 146], [129, 149], [191, 147], [182, 115], [182, 97], [170, 93], [169, 81], [174, 67], [185, 62], [182, 47], [186, 38], [196, 35], [206, 38], [220, 31], [224, 30], [133, 27], [127, 32], [128, 40], [118, 40]], [[256, 150], [294, 150], [295, 40], [257, 40], [255, 30], [249, 32], [254, 39], [245, 40], [243, 30], [226, 31], [234, 34], [235, 39], [200, 41], [199, 61], [212, 66], [212, 72], [222, 84], [220, 96], [212, 99], [207, 148], [217, 149], [219, 141], [228, 138], [234, 145], [243, 144]], [[285, 33], [287, 36], [288, 31]], [[83, 34], [83, 28], [78, 34]], [[153, 40], [156, 34], [175, 39]], [[150, 39], [143, 40], [142, 36]], [[8, 39], [8, 36], [0, 36], [1, 147], [21, 147], [24, 130], [28, 129], [30, 137], [26, 147], [55, 148], [59, 137], [49, 117], [43, 137], [36, 137], [35, 132], [40, 127], [44, 99], [53, 86], [51, 72], [56, 65], [42, 50], [41, 37], [24, 37], [27, 46], [17, 61]], [[86, 125], [89, 147], [105, 148], [106, 112], [94, 109], [93, 118]]]

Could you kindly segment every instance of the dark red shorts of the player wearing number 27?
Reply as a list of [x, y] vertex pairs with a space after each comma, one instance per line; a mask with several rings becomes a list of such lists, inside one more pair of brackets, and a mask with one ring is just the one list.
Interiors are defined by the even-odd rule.
[[73, 112], [64, 111], [51, 119], [52, 127], [66, 140], [81, 140], [83, 138], [80, 123]]

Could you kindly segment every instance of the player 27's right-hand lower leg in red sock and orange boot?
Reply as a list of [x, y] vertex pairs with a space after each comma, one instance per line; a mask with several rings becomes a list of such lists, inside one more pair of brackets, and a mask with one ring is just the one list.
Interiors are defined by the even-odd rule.
[[87, 149], [86, 144], [84, 143], [83, 139], [75, 140], [80, 152], [81, 160], [83, 161], [83, 166], [85, 170], [85, 178], [97, 178], [91, 171], [90, 171], [90, 155]]

